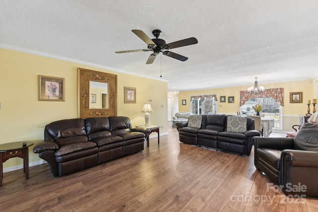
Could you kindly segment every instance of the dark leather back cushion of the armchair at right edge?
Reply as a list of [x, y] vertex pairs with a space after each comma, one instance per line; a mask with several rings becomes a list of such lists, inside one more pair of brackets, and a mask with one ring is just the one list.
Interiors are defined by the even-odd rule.
[[294, 147], [318, 151], [318, 124], [304, 123], [294, 138]]

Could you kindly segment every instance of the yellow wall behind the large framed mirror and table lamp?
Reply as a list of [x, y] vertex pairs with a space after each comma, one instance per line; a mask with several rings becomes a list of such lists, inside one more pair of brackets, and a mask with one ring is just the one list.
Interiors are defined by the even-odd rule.
[[[117, 115], [129, 117], [133, 126], [145, 124], [141, 110], [144, 103], [153, 99], [150, 124], [163, 126], [160, 134], [167, 133], [166, 81], [0, 48], [0, 144], [42, 141], [46, 124], [77, 118], [78, 68], [117, 74]], [[65, 102], [38, 101], [38, 75], [65, 78]], [[124, 104], [124, 86], [136, 87], [136, 104]], [[33, 146], [29, 149], [30, 163], [40, 160], [32, 149]], [[11, 158], [3, 166], [21, 164], [22, 159]]]

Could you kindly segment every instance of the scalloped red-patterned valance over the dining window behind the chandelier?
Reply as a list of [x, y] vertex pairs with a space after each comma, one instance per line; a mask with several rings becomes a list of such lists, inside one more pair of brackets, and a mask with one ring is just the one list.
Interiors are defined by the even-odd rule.
[[249, 93], [247, 90], [239, 91], [239, 106], [245, 104], [250, 98], [273, 98], [276, 99], [281, 106], [284, 106], [284, 88], [269, 88], [265, 89], [264, 92], [258, 93]]

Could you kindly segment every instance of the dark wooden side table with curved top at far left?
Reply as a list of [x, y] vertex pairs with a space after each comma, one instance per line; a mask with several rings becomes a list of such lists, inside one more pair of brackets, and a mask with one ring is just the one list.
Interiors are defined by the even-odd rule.
[[0, 187], [3, 181], [3, 166], [2, 163], [12, 157], [23, 158], [23, 170], [25, 179], [29, 179], [29, 146], [34, 143], [31, 141], [18, 141], [11, 143], [0, 144]]

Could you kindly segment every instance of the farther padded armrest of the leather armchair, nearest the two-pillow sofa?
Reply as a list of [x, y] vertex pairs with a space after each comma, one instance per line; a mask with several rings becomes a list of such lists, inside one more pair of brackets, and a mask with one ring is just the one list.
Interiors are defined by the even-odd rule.
[[272, 148], [278, 150], [292, 149], [294, 146], [294, 138], [268, 138], [268, 137], [253, 137], [254, 148]]

